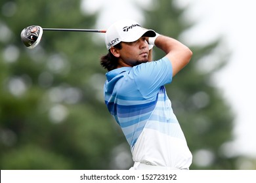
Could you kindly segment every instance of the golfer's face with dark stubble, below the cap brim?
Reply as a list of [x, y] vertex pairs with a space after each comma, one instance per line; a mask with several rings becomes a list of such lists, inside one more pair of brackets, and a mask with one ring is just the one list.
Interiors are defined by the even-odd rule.
[[[146, 37], [140, 37], [134, 42], [121, 42], [119, 50], [119, 61], [127, 66], [135, 66], [148, 62], [148, 42]], [[125, 66], [122, 65], [122, 66]]]

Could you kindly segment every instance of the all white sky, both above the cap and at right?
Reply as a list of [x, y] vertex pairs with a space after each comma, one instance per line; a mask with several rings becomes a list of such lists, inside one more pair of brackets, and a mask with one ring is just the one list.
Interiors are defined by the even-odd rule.
[[[121, 3], [118, 0], [84, 0], [83, 10], [87, 13], [100, 10], [96, 25], [98, 29], [106, 29], [120, 18], [132, 18], [142, 23], [144, 17], [132, 2], [140, 3], [146, 8], [152, 7], [152, 0], [123, 0]], [[176, 2], [180, 7], [188, 6], [184, 14], [186, 20], [197, 22], [192, 29], [182, 35], [182, 42], [188, 46], [203, 45], [221, 35], [224, 38], [223, 44], [230, 48], [232, 54], [228, 64], [215, 75], [214, 82], [223, 90], [224, 98], [236, 114], [234, 128], [236, 141], [231, 145], [240, 154], [256, 157], [256, 119], [253, 115], [256, 114], [254, 1], [177, 0]], [[207, 66], [203, 68], [207, 70]]]

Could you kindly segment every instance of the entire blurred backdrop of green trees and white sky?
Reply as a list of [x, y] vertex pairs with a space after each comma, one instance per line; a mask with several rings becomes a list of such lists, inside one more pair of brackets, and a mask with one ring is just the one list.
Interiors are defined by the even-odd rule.
[[[20, 41], [28, 25], [106, 29], [120, 18], [178, 39], [193, 52], [166, 86], [194, 156], [190, 169], [256, 169], [255, 46], [245, 42], [255, 41], [249, 2], [2, 0], [0, 169], [133, 165], [104, 105], [104, 33], [45, 31], [32, 50]], [[154, 48], [154, 59], [163, 56]]]

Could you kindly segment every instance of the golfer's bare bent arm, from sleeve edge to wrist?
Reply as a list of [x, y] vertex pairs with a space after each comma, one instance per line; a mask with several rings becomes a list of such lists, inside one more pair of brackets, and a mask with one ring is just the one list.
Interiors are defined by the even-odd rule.
[[165, 52], [173, 66], [173, 76], [188, 64], [192, 57], [191, 50], [181, 42], [163, 35], [156, 37], [154, 44]]

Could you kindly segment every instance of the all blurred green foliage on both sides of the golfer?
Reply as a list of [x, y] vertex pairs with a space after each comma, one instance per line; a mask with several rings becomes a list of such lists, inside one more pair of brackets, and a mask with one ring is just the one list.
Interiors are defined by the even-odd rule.
[[[158, 1], [153, 10], [144, 10], [145, 26], [179, 39], [190, 25], [172, 2]], [[98, 14], [85, 14], [80, 6], [80, 1], [68, 0], [0, 2], [0, 169], [132, 165], [129, 146], [102, 97], [105, 71], [99, 59], [106, 54], [104, 41], [95, 44], [93, 33], [53, 31], [44, 31], [33, 50], [20, 41], [28, 25], [96, 29]], [[211, 85], [211, 76], [227, 56], [211, 71], [198, 71], [198, 60], [218, 46], [219, 40], [192, 47], [192, 61], [167, 86], [194, 157], [211, 160], [203, 166], [196, 160], [192, 169], [239, 169], [245, 162], [223, 152], [232, 141], [234, 124], [230, 108]], [[163, 56], [157, 49], [154, 54]], [[255, 161], [251, 164], [255, 168]]]

